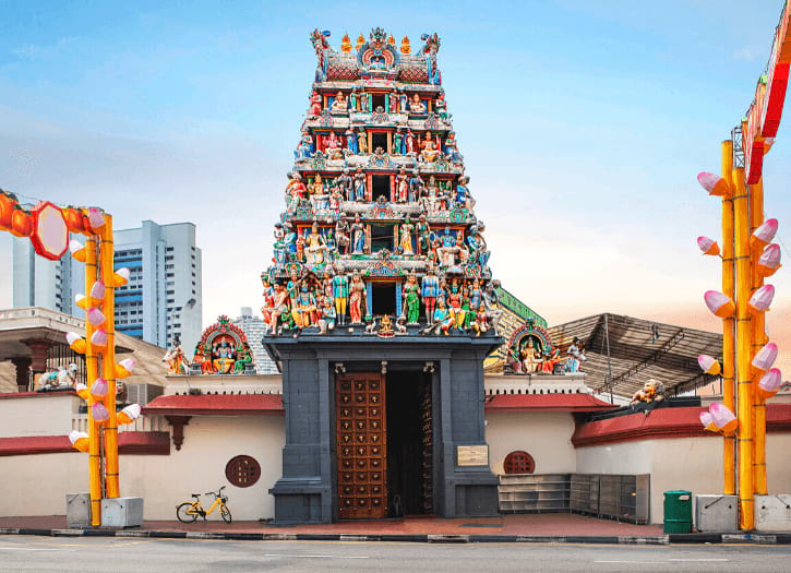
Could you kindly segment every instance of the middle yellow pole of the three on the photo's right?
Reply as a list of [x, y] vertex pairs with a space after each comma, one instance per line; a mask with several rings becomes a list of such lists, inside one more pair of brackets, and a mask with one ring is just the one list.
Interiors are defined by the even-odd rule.
[[733, 170], [733, 214], [736, 259], [736, 416], [739, 430], [740, 528], [753, 529], [753, 378], [752, 329], [750, 321], [750, 219], [744, 169]]

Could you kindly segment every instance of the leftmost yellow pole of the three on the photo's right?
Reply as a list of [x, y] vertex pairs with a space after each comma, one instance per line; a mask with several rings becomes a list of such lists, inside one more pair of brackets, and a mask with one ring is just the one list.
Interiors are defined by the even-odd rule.
[[[722, 178], [731, 182], [733, 170], [733, 142], [722, 142]], [[728, 186], [730, 192], [722, 195], [722, 293], [735, 300], [733, 279], [733, 184]], [[722, 320], [722, 403], [731, 411], [734, 407], [734, 332], [733, 317]], [[726, 496], [736, 493], [735, 475], [735, 437], [726, 435], [722, 442], [723, 492]]]

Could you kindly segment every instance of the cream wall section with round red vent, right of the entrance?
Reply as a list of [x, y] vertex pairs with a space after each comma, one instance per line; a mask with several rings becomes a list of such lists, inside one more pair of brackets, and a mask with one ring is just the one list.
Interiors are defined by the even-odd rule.
[[536, 461], [536, 474], [570, 474], [576, 468], [574, 419], [567, 413], [487, 413], [489, 465], [503, 474], [505, 456], [523, 450]]

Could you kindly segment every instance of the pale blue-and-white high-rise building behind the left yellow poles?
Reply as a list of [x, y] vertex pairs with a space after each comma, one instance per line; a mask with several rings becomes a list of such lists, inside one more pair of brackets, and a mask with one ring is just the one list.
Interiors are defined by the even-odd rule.
[[[144, 220], [115, 232], [116, 268], [129, 283], [116, 294], [116, 330], [163, 348], [176, 338], [194, 348], [202, 331], [202, 255], [195, 225]], [[82, 317], [74, 296], [85, 290], [82, 263], [71, 256], [36, 256], [29, 241], [13, 243], [13, 306], [39, 307]]]

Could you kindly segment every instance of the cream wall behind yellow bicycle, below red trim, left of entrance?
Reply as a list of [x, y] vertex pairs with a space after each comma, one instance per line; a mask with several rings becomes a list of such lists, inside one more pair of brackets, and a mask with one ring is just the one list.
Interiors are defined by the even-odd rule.
[[[184, 427], [184, 443], [170, 455], [121, 455], [121, 494], [144, 501], [146, 520], [176, 520], [176, 505], [190, 493], [227, 486], [233, 520], [274, 517], [268, 489], [281, 476], [285, 442], [283, 416], [193, 417]], [[261, 478], [249, 488], [231, 486], [228, 461], [240, 454], [261, 464]], [[88, 491], [87, 455], [79, 453], [0, 457], [3, 496], [0, 516], [63, 515], [65, 494]], [[202, 498], [208, 508], [212, 497]], [[216, 512], [209, 520], [219, 520]]]

